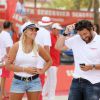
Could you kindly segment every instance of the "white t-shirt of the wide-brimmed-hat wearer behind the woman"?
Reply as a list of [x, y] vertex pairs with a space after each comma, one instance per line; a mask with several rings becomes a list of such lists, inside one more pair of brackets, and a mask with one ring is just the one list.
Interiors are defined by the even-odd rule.
[[[50, 38], [50, 32], [46, 30], [43, 27], [39, 27], [39, 31], [37, 32], [35, 41], [37, 44], [44, 46], [51, 46], [51, 38]], [[39, 64], [38, 67], [42, 68], [45, 61], [39, 56]]]

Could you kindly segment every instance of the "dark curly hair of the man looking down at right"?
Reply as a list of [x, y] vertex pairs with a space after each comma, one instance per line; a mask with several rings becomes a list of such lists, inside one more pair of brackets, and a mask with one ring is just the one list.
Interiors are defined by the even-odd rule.
[[91, 31], [93, 29], [93, 24], [88, 20], [81, 20], [75, 24], [76, 31], [82, 31], [83, 29]]

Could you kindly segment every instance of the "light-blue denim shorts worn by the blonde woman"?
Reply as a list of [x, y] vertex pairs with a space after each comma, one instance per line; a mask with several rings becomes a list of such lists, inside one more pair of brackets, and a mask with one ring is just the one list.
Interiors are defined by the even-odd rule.
[[29, 82], [14, 78], [10, 89], [11, 93], [25, 93], [38, 91], [42, 91], [42, 84], [39, 77]]

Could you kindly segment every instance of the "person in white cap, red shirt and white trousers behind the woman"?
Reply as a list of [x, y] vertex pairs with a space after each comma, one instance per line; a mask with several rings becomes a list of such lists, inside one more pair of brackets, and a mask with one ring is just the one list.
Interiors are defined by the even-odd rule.
[[52, 66], [48, 69], [46, 74], [46, 81], [42, 93], [47, 95], [47, 100], [55, 100], [55, 91], [57, 85], [57, 69], [60, 65], [60, 51], [55, 49], [57, 38], [59, 37], [60, 30], [63, 28], [59, 23], [54, 23], [51, 30], [51, 47], [50, 55], [53, 61]]

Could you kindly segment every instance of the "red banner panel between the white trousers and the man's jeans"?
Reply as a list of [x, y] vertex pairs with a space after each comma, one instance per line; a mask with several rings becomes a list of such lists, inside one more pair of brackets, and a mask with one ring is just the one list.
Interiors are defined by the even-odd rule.
[[61, 65], [57, 74], [57, 94], [67, 94], [70, 89], [74, 65]]

